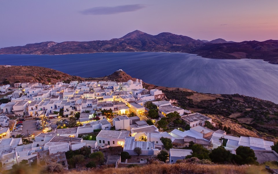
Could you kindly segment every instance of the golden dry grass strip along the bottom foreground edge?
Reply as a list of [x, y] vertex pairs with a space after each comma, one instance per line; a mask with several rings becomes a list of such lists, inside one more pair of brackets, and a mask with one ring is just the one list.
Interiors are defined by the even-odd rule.
[[[244, 174], [248, 166], [236, 165], [200, 165], [200, 164], [151, 164], [143, 167], [133, 168], [103, 168], [93, 171], [82, 171], [82, 174]], [[78, 171], [71, 171], [69, 174], [79, 174]]]

